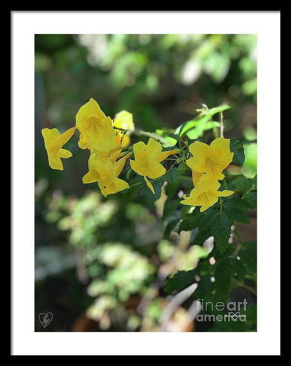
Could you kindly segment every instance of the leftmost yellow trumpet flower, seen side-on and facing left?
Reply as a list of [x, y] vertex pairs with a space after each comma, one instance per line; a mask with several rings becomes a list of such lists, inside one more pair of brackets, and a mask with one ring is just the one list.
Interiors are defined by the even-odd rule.
[[45, 140], [45, 148], [48, 153], [49, 166], [52, 169], [64, 170], [61, 158], [69, 158], [72, 156], [72, 153], [62, 149], [62, 147], [72, 137], [75, 131], [76, 127], [72, 127], [62, 134], [59, 133], [56, 128], [53, 128], [52, 130], [43, 128], [41, 130]]

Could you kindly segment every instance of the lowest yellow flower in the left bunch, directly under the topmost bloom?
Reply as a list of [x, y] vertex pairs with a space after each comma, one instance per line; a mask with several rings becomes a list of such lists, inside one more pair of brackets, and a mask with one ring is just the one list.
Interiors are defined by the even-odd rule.
[[[101, 161], [98, 156], [92, 152], [89, 158], [89, 172], [83, 176], [83, 183], [97, 182], [103, 196], [123, 191], [129, 188], [129, 184], [119, 178], [126, 160], [131, 155], [129, 152], [124, 156], [124, 153], [119, 153], [113, 157]], [[122, 157], [121, 157], [122, 156]], [[117, 162], [116, 160], [121, 157]]]

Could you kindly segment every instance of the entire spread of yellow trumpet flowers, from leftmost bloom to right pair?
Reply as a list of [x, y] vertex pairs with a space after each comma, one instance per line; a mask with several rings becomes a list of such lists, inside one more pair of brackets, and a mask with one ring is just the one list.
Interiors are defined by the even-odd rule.
[[[82, 181], [97, 182], [105, 197], [129, 188], [129, 183], [118, 176], [132, 154], [134, 159], [129, 163], [131, 169], [144, 177], [146, 185], [154, 194], [155, 190], [149, 179], [158, 179], [166, 173], [162, 161], [171, 154], [176, 157], [176, 162], [186, 160], [185, 155], [182, 157], [175, 155], [181, 153], [181, 149], [162, 151], [162, 145], [152, 137], [149, 138], [147, 145], [139, 141], [129, 147], [129, 134], [134, 130], [132, 115], [122, 111], [112, 120], [102, 112], [97, 101], [91, 98], [78, 111], [75, 127], [62, 134], [57, 129], [42, 130], [51, 168], [64, 169], [61, 158], [69, 158], [72, 153], [63, 149], [63, 146], [76, 130], [80, 132], [79, 148], [90, 151], [88, 172]], [[194, 142], [189, 146], [189, 152], [193, 157], [186, 160], [186, 164], [192, 169], [194, 189], [189, 197], [183, 196], [182, 204], [201, 206], [200, 211], [203, 212], [216, 203], [218, 197], [230, 196], [233, 193], [228, 190], [218, 191], [220, 187], [218, 180], [224, 178], [222, 171], [233, 157], [233, 153], [229, 150], [229, 142], [229, 139], [219, 137], [210, 146], [202, 142]]]

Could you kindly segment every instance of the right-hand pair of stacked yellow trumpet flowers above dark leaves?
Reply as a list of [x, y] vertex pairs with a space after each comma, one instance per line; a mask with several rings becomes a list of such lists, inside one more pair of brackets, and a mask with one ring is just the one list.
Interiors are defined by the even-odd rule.
[[189, 197], [183, 195], [182, 204], [201, 206], [200, 212], [203, 212], [213, 206], [218, 201], [218, 197], [228, 197], [234, 193], [229, 190], [218, 191], [220, 188], [218, 181], [225, 177], [222, 171], [233, 158], [229, 144], [228, 138], [218, 137], [211, 142], [210, 146], [200, 141], [189, 146], [193, 157], [188, 159], [186, 164], [192, 170], [194, 189]]

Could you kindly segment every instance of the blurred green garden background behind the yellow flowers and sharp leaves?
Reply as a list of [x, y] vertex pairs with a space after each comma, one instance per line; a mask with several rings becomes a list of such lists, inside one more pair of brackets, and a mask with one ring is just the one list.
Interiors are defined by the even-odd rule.
[[[203, 104], [227, 103], [225, 137], [255, 141], [257, 36], [36, 34], [34, 83], [35, 331], [164, 330], [164, 278], [192, 269], [205, 254], [188, 247], [188, 232], [163, 239], [179, 183], [158, 202], [146, 188], [105, 199], [97, 184], [82, 184], [88, 151], [78, 148], [77, 133], [66, 145], [74, 156], [58, 171], [49, 168], [41, 129], [73, 127], [91, 97], [106, 115], [127, 110], [136, 128], [152, 133], [195, 118]], [[140, 139], [147, 141], [132, 135], [131, 143]], [[255, 142], [245, 155], [242, 173], [251, 178]], [[185, 321], [189, 306], [178, 307], [171, 330], [210, 329]], [[46, 329], [42, 312], [53, 314]]]

